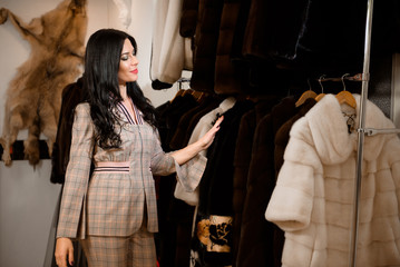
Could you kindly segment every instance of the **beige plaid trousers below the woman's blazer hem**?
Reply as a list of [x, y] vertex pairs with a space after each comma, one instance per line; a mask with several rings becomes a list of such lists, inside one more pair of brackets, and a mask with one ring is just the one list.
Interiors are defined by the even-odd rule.
[[89, 267], [156, 267], [153, 233], [142, 227], [129, 237], [88, 236], [79, 240]]

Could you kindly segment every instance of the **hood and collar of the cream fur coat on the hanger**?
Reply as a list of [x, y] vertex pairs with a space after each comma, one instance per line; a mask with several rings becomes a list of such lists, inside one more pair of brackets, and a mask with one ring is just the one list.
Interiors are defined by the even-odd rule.
[[[312, 145], [322, 164], [335, 165], [344, 162], [357, 151], [359, 128], [360, 95], [353, 93], [358, 109], [354, 116], [354, 129], [349, 134], [348, 118], [343, 116], [334, 95], [326, 95], [302, 119], [294, 123], [291, 137], [300, 138]], [[394, 128], [394, 125], [371, 101], [365, 103], [365, 128]], [[387, 138], [392, 135], [365, 136], [363, 158], [374, 160], [380, 155]]]

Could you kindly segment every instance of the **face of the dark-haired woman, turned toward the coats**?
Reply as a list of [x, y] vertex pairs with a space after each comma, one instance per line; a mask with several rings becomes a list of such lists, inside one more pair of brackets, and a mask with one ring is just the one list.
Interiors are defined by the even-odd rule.
[[135, 48], [131, 46], [129, 39], [125, 39], [118, 70], [119, 85], [137, 80], [137, 65], [139, 61], [137, 60], [135, 53]]

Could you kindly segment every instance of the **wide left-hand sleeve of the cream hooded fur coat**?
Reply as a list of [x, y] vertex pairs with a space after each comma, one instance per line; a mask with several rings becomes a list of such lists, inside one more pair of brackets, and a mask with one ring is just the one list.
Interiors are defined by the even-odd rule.
[[315, 184], [322, 179], [321, 161], [302, 138], [291, 139], [284, 159], [265, 216], [285, 231], [304, 229], [310, 225]]

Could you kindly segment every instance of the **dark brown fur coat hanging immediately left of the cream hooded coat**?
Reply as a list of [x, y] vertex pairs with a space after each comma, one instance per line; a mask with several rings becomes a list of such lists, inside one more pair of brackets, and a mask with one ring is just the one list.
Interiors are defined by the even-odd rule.
[[[277, 227], [264, 219], [264, 212], [275, 186], [274, 137], [295, 112], [294, 98], [286, 97], [257, 122], [243, 200], [236, 267], [276, 266], [274, 258], [282, 251], [283, 246], [276, 246], [274, 237]], [[237, 218], [235, 216], [235, 220]]]

